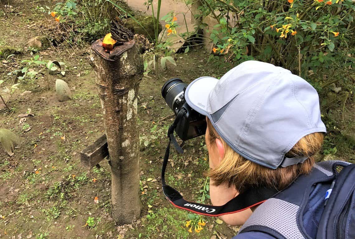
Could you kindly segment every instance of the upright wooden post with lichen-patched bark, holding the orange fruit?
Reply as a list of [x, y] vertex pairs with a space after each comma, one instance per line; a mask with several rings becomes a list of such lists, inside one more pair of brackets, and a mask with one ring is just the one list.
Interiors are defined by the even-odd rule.
[[91, 48], [111, 162], [111, 213], [118, 224], [130, 224], [141, 213], [136, 116], [143, 61], [134, 39], [111, 52], [102, 39]]

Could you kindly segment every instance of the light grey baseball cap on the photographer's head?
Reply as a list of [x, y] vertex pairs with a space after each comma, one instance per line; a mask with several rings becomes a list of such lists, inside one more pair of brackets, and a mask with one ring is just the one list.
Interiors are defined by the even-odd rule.
[[237, 153], [268, 168], [304, 162], [285, 154], [307, 134], [326, 132], [317, 91], [289, 70], [246, 61], [219, 80], [191, 82], [185, 99]]

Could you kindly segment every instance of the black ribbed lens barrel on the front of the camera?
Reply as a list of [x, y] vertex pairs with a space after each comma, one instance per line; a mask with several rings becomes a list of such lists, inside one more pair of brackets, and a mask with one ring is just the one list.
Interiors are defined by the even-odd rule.
[[182, 82], [179, 78], [172, 78], [165, 82], [162, 88], [162, 96], [166, 101], [166, 104], [175, 112], [179, 109], [179, 105], [184, 103], [184, 88], [187, 84]]

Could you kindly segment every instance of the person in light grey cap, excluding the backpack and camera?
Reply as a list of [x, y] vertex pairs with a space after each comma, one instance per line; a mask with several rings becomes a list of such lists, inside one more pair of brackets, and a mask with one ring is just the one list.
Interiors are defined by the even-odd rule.
[[[299, 176], [312, 172], [326, 127], [317, 91], [301, 77], [269, 63], [246, 61], [219, 80], [194, 80], [185, 91], [185, 99], [206, 116], [213, 205], [224, 205], [249, 188], [282, 191]], [[329, 187], [311, 188], [307, 210], [301, 216], [308, 238], [316, 238]], [[268, 205], [263, 204], [261, 211], [268, 211]], [[233, 226], [243, 225], [257, 207], [220, 218]], [[249, 228], [235, 239], [275, 238], [273, 234]]]

